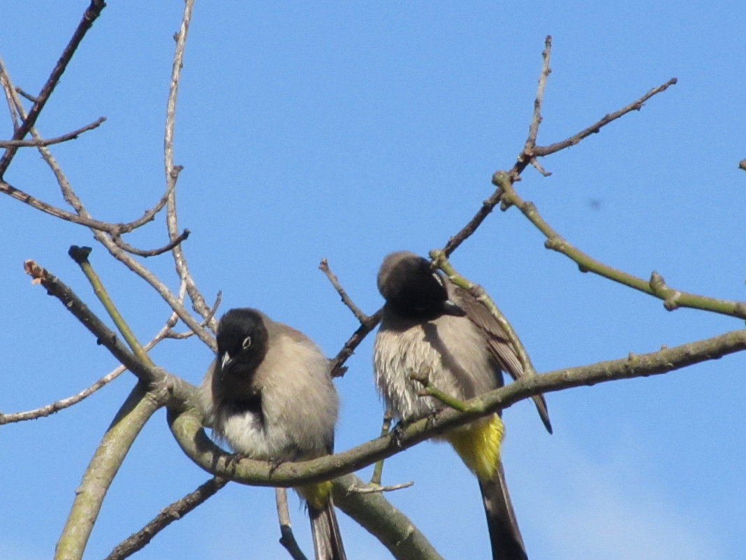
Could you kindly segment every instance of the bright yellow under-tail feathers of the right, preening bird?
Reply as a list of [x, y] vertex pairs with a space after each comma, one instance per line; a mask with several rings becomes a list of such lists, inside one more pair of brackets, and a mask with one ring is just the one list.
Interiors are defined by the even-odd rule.
[[503, 421], [497, 414], [457, 428], [443, 435], [477, 479], [490, 480], [500, 460], [504, 435]]

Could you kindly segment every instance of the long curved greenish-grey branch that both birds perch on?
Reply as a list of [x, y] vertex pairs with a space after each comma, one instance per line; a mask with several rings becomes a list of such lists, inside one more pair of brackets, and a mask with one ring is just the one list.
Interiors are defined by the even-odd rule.
[[515, 402], [539, 393], [673, 372], [692, 364], [742, 352], [744, 349], [746, 329], [726, 332], [648, 354], [630, 353], [626, 358], [568, 367], [536, 376], [524, 376], [495, 391], [466, 401], [464, 411], [440, 411], [435, 418], [427, 417], [400, 425], [395, 435], [385, 435], [347, 451], [313, 461], [276, 465], [248, 458], [236, 460], [236, 455], [219, 449], [207, 438], [202, 429], [201, 418], [195, 412], [172, 407], [169, 408], [168, 420], [181, 449], [208, 473], [242, 484], [289, 487], [322, 482], [354, 472], [421, 441], [508, 408]]

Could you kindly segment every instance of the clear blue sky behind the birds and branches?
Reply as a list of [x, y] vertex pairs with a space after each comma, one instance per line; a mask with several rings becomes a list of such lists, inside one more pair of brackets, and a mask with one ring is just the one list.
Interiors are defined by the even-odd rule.
[[[5, 2], [0, 56], [37, 91], [84, 1]], [[63, 76], [38, 122], [47, 136], [107, 116], [52, 150], [101, 220], [139, 217], [163, 190], [163, 117], [181, 2], [115, 2]], [[223, 311], [253, 306], [306, 332], [327, 355], [356, 328], [317, 270], [322, 257], [364, 311], [381, 304], [383, 255], [442, 246], [513, 164], [530, 120], [544, 37], [554, 37], [539, 143], [585, 128], [673, 76], [679, 83], [518, 184], [571, 243], [671, 287], [746, 299], [746, 158], [740, 3], [198, 2], [176, 127], [180, 221], [198, 286]], [[1, 121], [10, 137], [10, 121]], [[22, 151], [7, 179], [62, 204], [39, 156]], [[0, 410], [81, 391], [116, 366], [22, 273], [37, 260], [93, 307], [66, 256], [89, 231], [0, 199]], [[160, 218], [131, 243], [163, 244]], [[92, 262], [147, 340], [163, 302], [96, 247]], [[543, 248], [515, 209], [495, 211], [454, 253], [491, 293], [539, 371], [739, 329], [742, 321], [661, 303], [577, 272]], [[176, 287], [168, 257], [148, 266]], [[373, 438], [381, 405], [372, 337], [348, 361], [337, 448]], [[159, 364], [198, 382], [211, 355], [167, 341]], [[666, 376], [548, 395], [555, 433], [525, 402], [505, 413], [504, 461], [532, 559], [730, 560], [746, 550], [742, 394], [746, 357]], [[0, 429], [0, 559], [48, 558], [95, 445], [130, 391], [116, 382], [52, 417]], [[359, 473], [366, 478], [369, 471]], [[207, 479], [179, 451], [159, 412], [107, 496], [88, 558], [105, 556], [160, 508]], [[386, 461], [389, 494], [446, 558], [488, 555], [477, 484], [451, 450], [421, 444]], [[307, 521], [292, 499], [295, 532]], [[348, 556], [387, 553], [340, 514]], [[140, 559], [284, 559], [272, 491], [229, 485], [157, 535]]]

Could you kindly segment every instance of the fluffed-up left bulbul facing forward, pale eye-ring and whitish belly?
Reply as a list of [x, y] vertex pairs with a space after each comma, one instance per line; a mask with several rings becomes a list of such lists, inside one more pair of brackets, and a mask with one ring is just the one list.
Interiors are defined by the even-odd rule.
[[[261, 311], [231, 309], [201, 385], [205, 423], [240, 455], [302, 461], [330, 454], [338, 399], [329, 361], [309, 337]], [[306, 501], [316, 560], [345, 560], [331, 482], [295, 488]]]

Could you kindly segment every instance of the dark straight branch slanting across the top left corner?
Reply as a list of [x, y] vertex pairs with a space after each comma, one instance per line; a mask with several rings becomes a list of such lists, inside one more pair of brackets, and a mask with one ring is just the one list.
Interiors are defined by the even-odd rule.
[[[37, 96], [37, 100], [34, 102], [31, 110], [28, 111], [28, 115], [23, 119], [21, 125], [13, 133], [13, 138], [11, 138], [11, 140], [23, 140], [23, 137], [25, 137], [25, 135], [28, 134], [28, 131], [30, 131], [34, 124], [36, 124], [39, 114], [43, 110], [44, 105], [46, 105], [49, 96], [51, 96], [51, 93], [54, 91], [54, 87], [57, 86], [68, 63], [72, 60], [72, 55], [75, 55], [75, 50], [78, 49], [81, 40], [83, 40], [83, 37], [85, 37], [87, 31], [91, 28], [93, 22], [95, 22], [95, 19], [98, 18], [101, 14], [101, 10], [103, 10], [105, 6], [106, 4], [103, 0], [91, 0], [90, 5], [86, 8], [83, 14], [81, 22], [78, 24], [78, 28], [75, 29], [75, 33], [72, 34], [72, 38], [69, 43], [67, 43], [60, 59], [57, 60], [57, 64], [54, 65], [54, 69], [52, 69], [49, 78]], [[0, 158], [0, 178], [5, 174], [7, 167], [10, 165], [10, 162], [13, 161], [13, 156], [16, 155], [17, 151], [18, 148], [12, 146], [5, 149], [5, 153], [2, 155], [2, 158]]]

